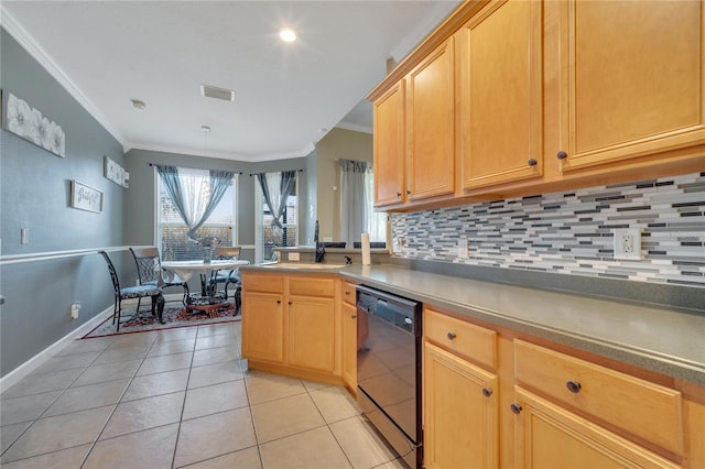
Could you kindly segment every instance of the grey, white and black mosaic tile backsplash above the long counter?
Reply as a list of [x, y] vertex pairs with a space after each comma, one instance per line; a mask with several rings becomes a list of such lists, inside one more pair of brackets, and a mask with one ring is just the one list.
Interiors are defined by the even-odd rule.
[[[612, 258], [616, 228], [641, 229], [641, 260]], [[705, 288], [705, 173], [393, 214], [392, 239], [405, 259]]]

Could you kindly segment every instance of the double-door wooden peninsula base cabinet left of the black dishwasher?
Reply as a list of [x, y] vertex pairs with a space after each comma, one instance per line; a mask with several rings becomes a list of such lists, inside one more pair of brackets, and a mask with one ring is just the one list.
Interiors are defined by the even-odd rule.
[[242, 358], [251, 369], [340, 384], [339, 281], [242, 273]]

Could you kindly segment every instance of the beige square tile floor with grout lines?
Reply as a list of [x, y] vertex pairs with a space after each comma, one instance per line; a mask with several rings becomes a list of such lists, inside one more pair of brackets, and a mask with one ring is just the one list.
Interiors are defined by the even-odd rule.
[[247, 371], [240, 324], [77, 340], [0, 396], [3, 469], [403, 468], [336, 386]]

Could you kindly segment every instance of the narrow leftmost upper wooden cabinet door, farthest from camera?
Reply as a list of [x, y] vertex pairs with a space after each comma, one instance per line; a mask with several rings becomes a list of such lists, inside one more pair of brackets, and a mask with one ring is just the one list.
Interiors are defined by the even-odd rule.
[[404, 195], [404, 81], [372, 103], [375, 206], [401, 204]]

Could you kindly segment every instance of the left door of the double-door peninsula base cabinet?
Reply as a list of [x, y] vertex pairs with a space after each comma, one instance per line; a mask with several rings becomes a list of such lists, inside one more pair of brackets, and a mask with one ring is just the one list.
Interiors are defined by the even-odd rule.
[[247, 292], [242, 295], [242, 357], [284, 361], [283, 296]]

